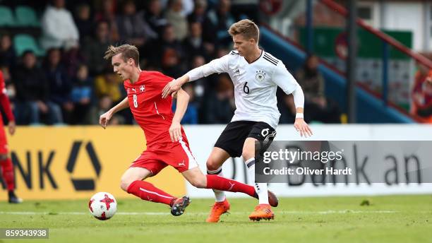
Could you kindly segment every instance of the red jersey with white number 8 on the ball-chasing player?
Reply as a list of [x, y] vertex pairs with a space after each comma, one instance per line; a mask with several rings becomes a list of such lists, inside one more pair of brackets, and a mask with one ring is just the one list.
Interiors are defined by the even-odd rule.
[[[169, 136], [174, 113], [172, 112], [172, 97], [162, 99], [162, 90], [174, 78], [157, 71], [141, 71], [138, 81], [124, 81], [128, 94], [129, 107], [138, 125], [143, 129], [147, 147], [156, 143], [172, 143]], [[186, 135], [181, 129], [183, 140]]]

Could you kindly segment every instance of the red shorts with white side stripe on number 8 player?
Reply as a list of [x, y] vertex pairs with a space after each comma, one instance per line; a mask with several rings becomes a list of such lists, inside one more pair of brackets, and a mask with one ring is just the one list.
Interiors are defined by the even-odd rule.
[[132, 162], [131, 167], [145, 168], [155, 175], [167, 165], [171, 165], [180, 173], [198, 166], [187, 141], [151, 146]]

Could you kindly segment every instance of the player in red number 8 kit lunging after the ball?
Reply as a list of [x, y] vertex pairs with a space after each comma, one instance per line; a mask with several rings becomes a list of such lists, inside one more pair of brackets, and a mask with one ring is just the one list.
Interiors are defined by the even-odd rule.
[[[165, 203], [172, 207], [172, 215], [181, 215], [190, 203], [187, 196], [176, 198], [143, 181], [171, 165], [198, 188], [243, 192], [258, 198], [253, 186], [215, 174], [205, 175], [200, 171], [180, 125], [188, 105], [188, 94], [184, 90], [176, 93], [175, 114], [171, 109], [172, 97], [162, 99], [162, 89], [174, 78], [156, 71], [141, 71], [138, 66], [139, 52], [133, 45], [110, 46], [104, 58], [112, 60], [114, 72], [124, 80], [124, 88], [128, 95], [100, 116], [101, 126], [106, 128], [114, 113], [130, 107], [147, 140], [147, 150], [133, 161], [121, 177], [121, 189], [145, 201]], [[273, 194], [269, 195], [270, 201], [277, 201]]]

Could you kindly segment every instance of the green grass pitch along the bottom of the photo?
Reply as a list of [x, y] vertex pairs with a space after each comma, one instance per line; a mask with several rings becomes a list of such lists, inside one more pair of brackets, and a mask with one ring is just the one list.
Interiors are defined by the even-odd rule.
[[256, 200], [232, 198], [217, 224], [205, 223], [212, 199], [192, 200], [180, 217], [160, 203], [119, 200], [107, 221], [92, 218], [85, 200], [0, 202], [1, 228], [49, 228], [49, 239], [0, 242], [432, 242], [431, 195], [280, 198], [270, 222], [248, 220]]

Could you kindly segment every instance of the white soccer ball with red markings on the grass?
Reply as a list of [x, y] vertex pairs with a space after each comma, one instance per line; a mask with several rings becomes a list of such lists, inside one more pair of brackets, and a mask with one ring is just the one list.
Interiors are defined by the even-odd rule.
[[109, 220], [117, 211], [117, 201], [107, 192], [98, 192], [88, 201], [88, 209], [98, 220]]

